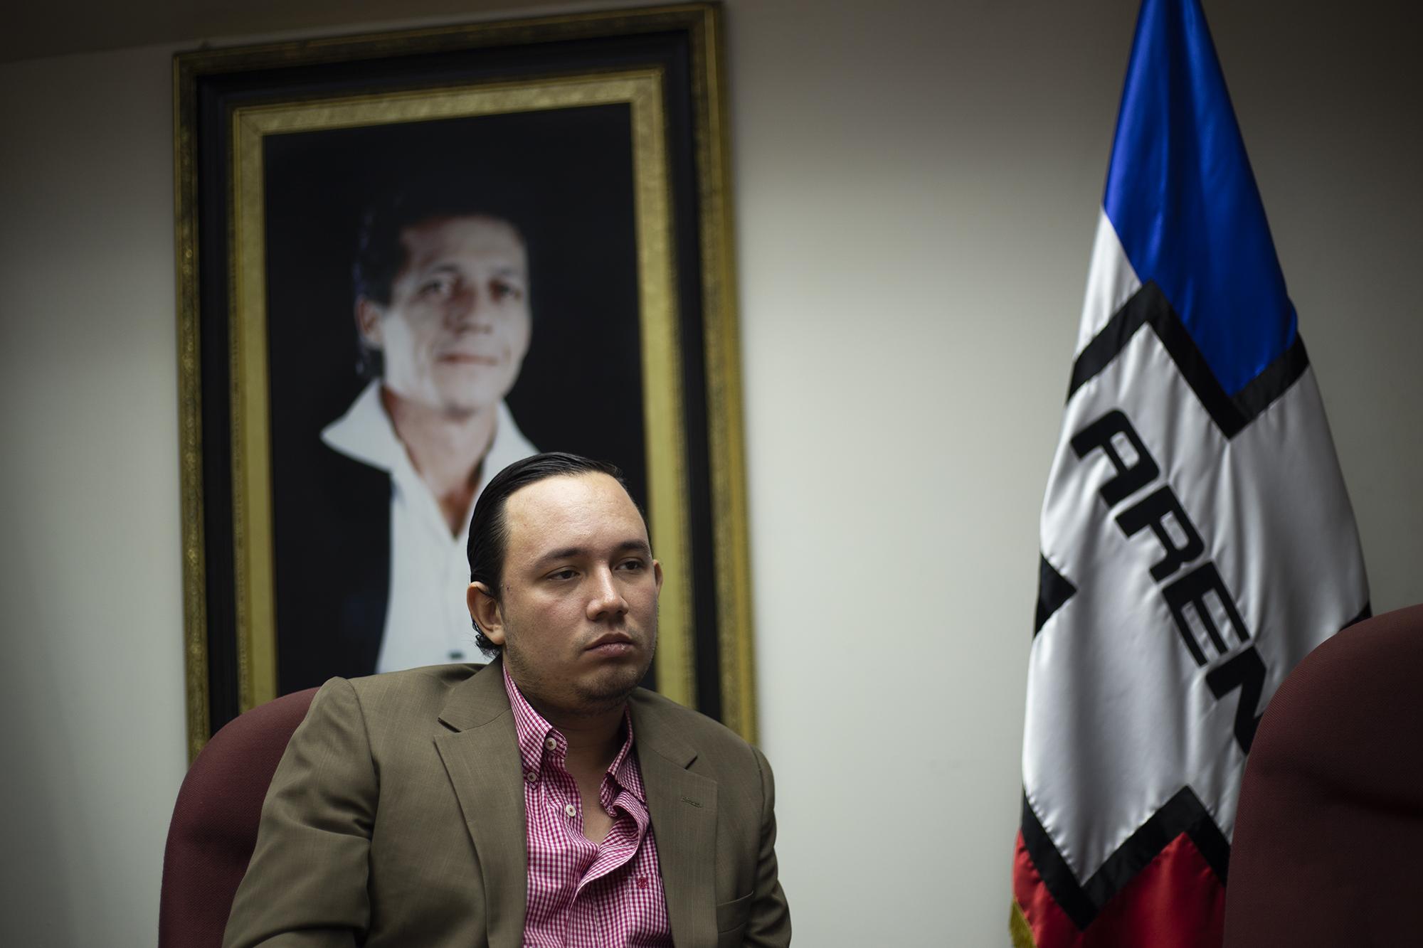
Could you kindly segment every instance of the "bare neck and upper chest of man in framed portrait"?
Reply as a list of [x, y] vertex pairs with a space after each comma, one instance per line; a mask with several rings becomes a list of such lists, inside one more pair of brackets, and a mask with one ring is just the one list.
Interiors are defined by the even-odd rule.
[[458, 413], [403, 399], [381, 386], [380, 403], [410, 464], [440, 502], [453, 532], [480, 487], [480, 463], [494, 441], [498, 410]]

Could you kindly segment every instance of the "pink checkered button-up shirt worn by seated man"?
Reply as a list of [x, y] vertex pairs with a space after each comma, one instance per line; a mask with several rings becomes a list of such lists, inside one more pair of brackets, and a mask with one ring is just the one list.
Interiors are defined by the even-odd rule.
[[632, 753], [632, 719], [625, 719], [628, 739], [598, 789], [613, 827], [595, 844], [583, 836], [578, 784], [564, 766], [568, 739], [529, 706], [508, 669], [504, 688], [524, 759], [529, 857], [524, 947], [670, 948], [657, 846]]

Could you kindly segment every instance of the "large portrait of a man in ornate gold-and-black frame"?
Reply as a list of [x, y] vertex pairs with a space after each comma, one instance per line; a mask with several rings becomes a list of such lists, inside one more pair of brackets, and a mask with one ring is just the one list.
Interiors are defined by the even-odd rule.
[[504, 465], [622, 468], [650, 688], [754, 739], [714, 4], [174, 63], [189, 752], [279, 695], [485, 662]]

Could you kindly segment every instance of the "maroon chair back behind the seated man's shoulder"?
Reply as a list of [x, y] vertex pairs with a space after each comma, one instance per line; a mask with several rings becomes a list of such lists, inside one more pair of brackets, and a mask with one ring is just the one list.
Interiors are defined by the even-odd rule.
[[192, 763], [168, 826], [159, 948], [221, 948], [258, 841], [262, 800], [313, 695], [309, 688], [238, 716]]

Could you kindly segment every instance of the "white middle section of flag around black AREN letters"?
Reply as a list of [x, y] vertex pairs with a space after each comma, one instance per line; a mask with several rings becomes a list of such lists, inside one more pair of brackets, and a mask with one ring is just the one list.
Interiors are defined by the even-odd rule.
[[[1106, 233], [1103, 232], [1106, 231]], [[1093, 252], [1079, 353], [1137, 289], [1110, 221]], [[1116, 468], [1079, 458], [1072, 437], [1120, 410], [1161, 467], [1111, 507], [1099, 495]], [[1170, 485], [1205, 551], [1157, 582], [1150, 530], [1127, 537], [1116, 517]], [[1231, 836], [1244, 754], [1239, 689], [1217, 699], [1207, 673], [1254, 645], [1266, 666], [1262, 710], [1288, 670], [1363, 609], [1368, 592], [1313, 373], [1306, 370], [1234, 438], [1225, 438], [1150, 326], [1069, 400], [1042, 514], [1042, 551], [1077, 592], [1035, 638], [1023, 779], [1029, 803], [1079, 883], [1183, 786]], [[1249, 642], [1184, 645], [1163, 589], [1212, 561]]]

